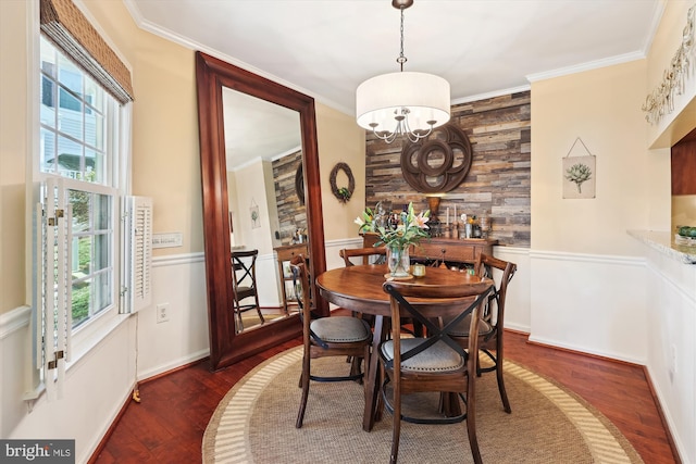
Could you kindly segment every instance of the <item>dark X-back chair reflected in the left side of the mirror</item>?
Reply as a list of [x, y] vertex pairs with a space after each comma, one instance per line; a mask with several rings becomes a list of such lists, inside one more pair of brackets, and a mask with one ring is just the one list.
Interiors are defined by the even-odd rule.
[[[232, 290], [234, 296], [234, 312], [237, 315], [237, 331], [244, 330], [241, 313], [257, 310], [261, 324], [265, 321], [259, 305], [259, 292], [257, 290], [257, 258], [259, 250], [233, 250], [232, 251]], [[252, 299], [245, 303], [243, 300]]]

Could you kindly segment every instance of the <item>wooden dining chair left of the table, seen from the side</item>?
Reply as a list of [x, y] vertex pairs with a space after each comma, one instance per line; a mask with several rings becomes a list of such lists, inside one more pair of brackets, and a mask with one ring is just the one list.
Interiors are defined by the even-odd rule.
[[295, 427], [300, 428], [304, 419], [310, 380], [345, 381], [361, 380], [363, 377], [363, 373], [359, 367], [357, 372], [351, 369], [347, 376], [327, 377], [313, 375], [311, 371], [311, 360], [326, 356], [352, 356], [352, 359], [356, 360], [365, 360], [366, 365], [370, 359], [372, 331], [368, 323], [357, 317], [328, 316], [313, 318], [309, 293], [310, 281], [303, 255], [298, 254], [293, 258], [290, 261], [290, 272], [300, 306], [302, 346], [304, 350], [302, 355], [302, 374], [300, 376], [302, 397], [295, 423]]

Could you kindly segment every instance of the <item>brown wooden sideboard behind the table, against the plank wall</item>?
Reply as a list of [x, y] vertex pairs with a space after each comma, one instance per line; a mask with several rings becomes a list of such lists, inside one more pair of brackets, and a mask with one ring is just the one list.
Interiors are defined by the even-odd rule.
[[[373, 247], [378, 241], [374, 234], [362, 236], [363, 247]], [[428, 264], [445, 261], [446, 263], [473, 264], [481, 253], [493, 256], [493, 246], [498, 240], [470, 238], [430, 238], [421, 240], [418, 247], [411, 248], [411, 259]]]

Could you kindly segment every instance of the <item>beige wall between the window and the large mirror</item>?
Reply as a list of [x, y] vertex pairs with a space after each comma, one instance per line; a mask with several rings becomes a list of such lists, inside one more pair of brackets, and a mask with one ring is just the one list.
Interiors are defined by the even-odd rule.
[[156, 234], [183, 233], [183, 247], [156, 256], [201, 252], [194, 51], [138, 28], [123, 2], [84, 3], [133, 67], [133, 193], [152, 197]]

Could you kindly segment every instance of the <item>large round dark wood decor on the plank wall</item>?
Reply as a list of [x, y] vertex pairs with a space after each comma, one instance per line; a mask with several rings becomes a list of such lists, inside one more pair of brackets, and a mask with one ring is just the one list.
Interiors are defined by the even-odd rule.
[[449, 123], [427, 138], [409, 142], [401, 151], [403, 178], [422, 193], [447, 192], [464, 180], [473, 150], [467, 134]]

